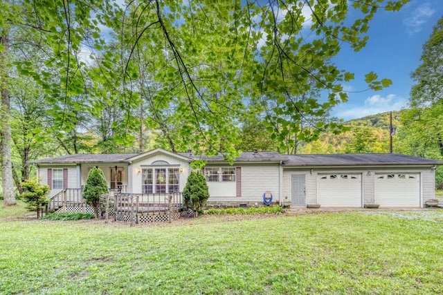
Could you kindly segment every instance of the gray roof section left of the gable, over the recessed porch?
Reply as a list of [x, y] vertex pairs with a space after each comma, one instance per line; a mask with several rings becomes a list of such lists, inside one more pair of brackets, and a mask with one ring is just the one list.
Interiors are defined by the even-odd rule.
[[63, 155], [57, 158], [46, 158], [31, 161], [34, 164], [76, 164], [76, 163], [109, 163], [109, 162], [129, 162], [129, 158], [138, 153], [78, 153], [75, 155]]

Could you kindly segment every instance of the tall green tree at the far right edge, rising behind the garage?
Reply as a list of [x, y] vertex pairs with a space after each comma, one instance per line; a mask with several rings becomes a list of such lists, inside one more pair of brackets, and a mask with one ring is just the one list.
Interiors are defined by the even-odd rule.
[[422, 63], [411, 74], [410, 111], [401, 117], [411, 153], [443, 158], [443, 17], [423, 45]]

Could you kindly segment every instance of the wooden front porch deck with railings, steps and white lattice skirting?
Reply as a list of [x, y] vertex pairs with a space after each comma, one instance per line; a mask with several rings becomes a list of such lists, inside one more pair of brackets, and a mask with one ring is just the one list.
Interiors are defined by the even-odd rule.
[[[123, 188], [109, 191], [109, 215], [115, 221], [170, 222], [183, 215], [181, 193], [125, 193]], [[42, 209], [50, 212], [93, 213], [93, 208], [82, 196], [83, 189], [63, 189]], [[101, 211], [101, 210], [100, 210]]]

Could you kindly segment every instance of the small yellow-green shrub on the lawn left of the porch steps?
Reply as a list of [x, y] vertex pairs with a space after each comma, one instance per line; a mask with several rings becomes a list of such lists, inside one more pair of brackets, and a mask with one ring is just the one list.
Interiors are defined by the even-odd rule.
[[48, 184], [41, 184], [37, 178], [29, 178], [21, 182], [24, 192], [21, 198], [28, 203], [30, 211], [37, 211], [37, 218], [40, 218], [40, 209], [49, 203], [46, 198], [50, 191]]

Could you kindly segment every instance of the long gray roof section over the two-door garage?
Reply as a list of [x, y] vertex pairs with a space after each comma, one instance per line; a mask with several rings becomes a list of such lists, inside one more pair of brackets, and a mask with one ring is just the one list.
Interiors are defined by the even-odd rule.
[[398, 153], [286, 155], [285, 166], [441, 165], [443, 162]]

